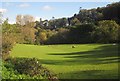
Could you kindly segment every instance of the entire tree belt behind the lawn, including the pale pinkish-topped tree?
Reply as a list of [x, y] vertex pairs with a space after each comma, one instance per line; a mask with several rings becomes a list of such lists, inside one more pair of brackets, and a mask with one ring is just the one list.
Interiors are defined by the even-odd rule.
[[[115, 31], [118, 32], [117, 29], [114, 31], [113, 27], [114, 33], [110, 34], [110, 32], [108, 33], [108, 27], [105, 27], [106, 29], [102, 28], [102, 25], [107, 26], [110, 23], [116, 22], [116, 25], [119, 24], [119, 3], [109, 4], [106, 7], [98, 7], [96, 9], [87, 10], [81, 8], [78, 14], [74, 14], [74, 16], [69, 18], [55, 19], [53, 17], [51, 20], [40, 19], [40, 21], [36, 22], [33, 22], [34, 17], [30, 15], [18, 15], [16, 23], [21, 30], [21, 36], [19, 36], [21, 41], [19, 43], [39, 45], [119, 42], [117, 33], [115, 33]], [[111, 19], [113, 22], [100, 23]], [[61, 29], [64, 32], [60, 32], [59, 30]], [[105, 29], [105, 31], [102, 29]], [[103, 31], [105, 35], [103, 35]]]

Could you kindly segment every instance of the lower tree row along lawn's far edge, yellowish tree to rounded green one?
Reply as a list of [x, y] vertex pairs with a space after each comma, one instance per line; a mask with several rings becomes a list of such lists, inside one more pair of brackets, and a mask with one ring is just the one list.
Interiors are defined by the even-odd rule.
[[119, 25], [112, 20], [97, 24], [81, 24], [54, 30], [39, 29], [36, 41], [39, 44], [79, 44], [119, 42]]

